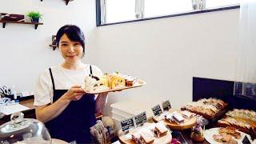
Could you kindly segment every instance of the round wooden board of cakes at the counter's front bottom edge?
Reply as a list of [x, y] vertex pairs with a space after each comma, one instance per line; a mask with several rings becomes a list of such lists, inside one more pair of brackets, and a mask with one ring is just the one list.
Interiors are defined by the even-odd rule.
[[[129, 134], [131, 134], [131, 132], [128, 134], [121, 134], [121, 133], [122, 132], [120, 130], [120, 132], [118, 134], [119, 142], [121, 142], [122, 144], [136, 144], [136, 142], [130, 138], [131, 136], [129, 136]], [[171, 135], [170, 131], [168, 131], [168, 133], [161, 138], [155, 137], [153, 143], [170, 143], [171, 140], [172, 140], [172, 135]]]

